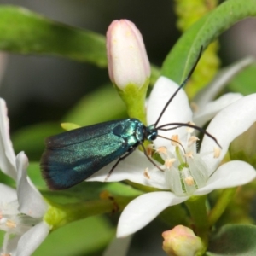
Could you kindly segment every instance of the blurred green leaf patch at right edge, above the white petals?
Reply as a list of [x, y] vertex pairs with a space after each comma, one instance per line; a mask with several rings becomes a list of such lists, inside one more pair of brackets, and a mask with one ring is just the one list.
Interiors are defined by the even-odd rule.
[[228, 88], [231, 91], [240, 92], [245, 96], [254, 93], [256, 91], [255, 73], [256, 64], [253, 64], [236, 75], [228, 85]]

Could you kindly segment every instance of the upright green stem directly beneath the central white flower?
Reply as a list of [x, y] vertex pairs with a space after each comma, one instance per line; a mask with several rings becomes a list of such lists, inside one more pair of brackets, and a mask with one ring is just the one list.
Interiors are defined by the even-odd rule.
[[208, 246], [209, 224], [207, 219], [206, 198], [206, 195], [192, 196], [185, 202], [195, 224], [196, 236], [201, 237], [203, 244], [201, 255], [206, 252]]

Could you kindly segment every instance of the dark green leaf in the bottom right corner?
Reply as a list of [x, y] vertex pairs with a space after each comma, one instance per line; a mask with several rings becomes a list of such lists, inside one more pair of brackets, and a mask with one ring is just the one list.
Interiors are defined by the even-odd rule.
[[225, 225], [212, 236], [207, 255], [256, 255], [255, 237], [253, 225]]

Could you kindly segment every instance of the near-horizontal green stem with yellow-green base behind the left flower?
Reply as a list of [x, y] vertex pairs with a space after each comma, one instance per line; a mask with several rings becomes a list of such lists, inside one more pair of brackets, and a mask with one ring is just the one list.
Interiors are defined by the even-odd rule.
[[61, 226], [73, 221], [87, 218], [90, 216], [119, 212], [133, 200], [135, 197], [109, 197], [103, 200], [79, 201], [69, 204], [56, 204], [48, 201], [49, 209], [44, 214], [44, 221], [52, 226], [51, 230], [60, 228]]

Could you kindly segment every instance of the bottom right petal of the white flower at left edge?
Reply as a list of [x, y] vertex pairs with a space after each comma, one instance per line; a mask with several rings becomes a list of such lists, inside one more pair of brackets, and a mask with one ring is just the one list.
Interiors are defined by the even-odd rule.
[[49, 234], [49, 225], [44, 221], [36, 224], [32, 229], [28, 230], [20, 237], [17, 247], [17, 256], [29, 256], [44, 241]]

